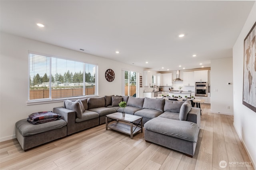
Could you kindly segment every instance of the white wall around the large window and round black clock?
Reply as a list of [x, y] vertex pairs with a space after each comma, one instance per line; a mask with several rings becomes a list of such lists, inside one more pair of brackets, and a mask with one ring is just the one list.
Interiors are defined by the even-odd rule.
[[[120, 63], [79, 51], [42, 43], [1, 32], [0, 58], [0, 141], [15, 138], [15, 123], [38, 111], [52, 111], [62, 102], [26, 105], [28, 101], [28, 51], [45, 53], [68, 59], [98, 64], [99, 96], [122, 95], [122, 69], [136, 71], [143, 75], [143, 68]], [[115, 79], [106, 81], [107, 69], [115, 71]], [[143, 88], [139, 88], [143, 97]]]

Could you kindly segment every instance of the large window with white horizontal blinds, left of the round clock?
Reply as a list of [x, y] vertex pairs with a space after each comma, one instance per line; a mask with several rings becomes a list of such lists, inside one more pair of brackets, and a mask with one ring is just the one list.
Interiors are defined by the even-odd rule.
[[29, 54], [28, 101], [98, 95], [98, 65]]

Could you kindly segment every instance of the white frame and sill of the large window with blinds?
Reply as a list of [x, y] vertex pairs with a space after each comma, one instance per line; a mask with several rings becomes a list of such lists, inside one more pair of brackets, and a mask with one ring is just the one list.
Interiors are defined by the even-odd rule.
[[[40, 55], [43, 57], [50, 57], [50, 75], [49, 75], [49, 98], [42, 98], [42, 99], [32, 99], [30, 100], [30, 55]], [[64, 59], [68, 61], [75, 61], [75, 62], [80, 62], [83, 63], [83, 90], [84, 90], [84, 95], [82, 96], [72, 96], [72, 97], [63, 97], [63, 98], [57, 98], [57, 99], [52, 99], [51, 93], [52, 93], [52, 58], [57, 58], [57, 59]], [[86, 71], [86, 64], [89, 65], [95, 65], [95, 94], [94, 95], [85, 95], [85, 90], [86, 90], [86, 83], [85, 83], [85, 71]], [[27, 105], [36, 105], [36, 104], [44, 104], [44, 103], [56, 103], [56, 102], [61, 102], [64, 100], [76, 100], [76, 99], [86, 99], [89, 97], [98, 97], [98, 64], [96, 63], [90, 63], [90, 62], [84, 62], [84, 61], [78, 61], [75, 59], [70, 59], [70, 58], [64, 58], [64, 57], [59, 57], [55, 55], [48, 55], [48, 54], [43, 54], [43, 53], [38, 53], [34, 51], [28, 51], [28, 101], [26, 102]]]

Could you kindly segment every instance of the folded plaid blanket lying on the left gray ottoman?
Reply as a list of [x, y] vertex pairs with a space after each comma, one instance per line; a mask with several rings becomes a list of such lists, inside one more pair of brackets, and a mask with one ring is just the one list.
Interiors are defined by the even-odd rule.
[[56, 121], [58, 118], [60, 118], [61, 115], [58, 115], [56, 113], [52, 113], [51, 111], [45, 111], [45, 112], [36, 112], [28, 115], [28, 122], [36, 125], [40, 123], [46, 123], [51, 121]]

